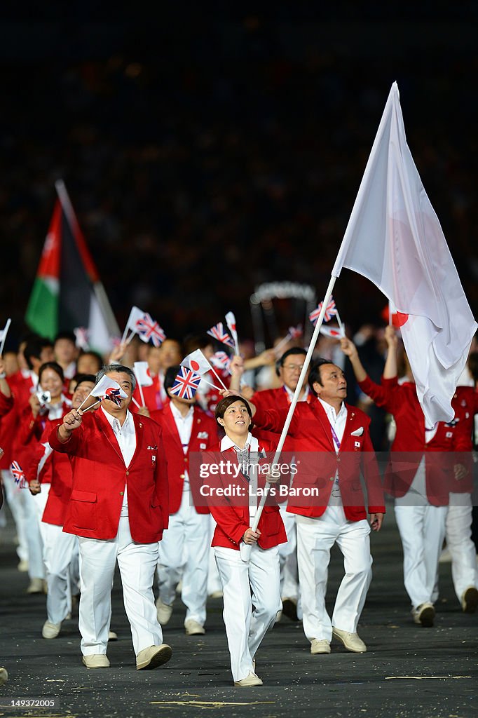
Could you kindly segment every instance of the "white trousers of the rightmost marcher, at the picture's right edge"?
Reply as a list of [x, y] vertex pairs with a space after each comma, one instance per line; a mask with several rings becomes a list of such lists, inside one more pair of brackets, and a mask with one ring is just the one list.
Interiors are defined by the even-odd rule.
[[451, 577], [456, 597], [469, 586], [478, 588], [477, 549], [472, 541], [472, 495], [451, 493], [446, 514], [446, 546], [451, 555]]

